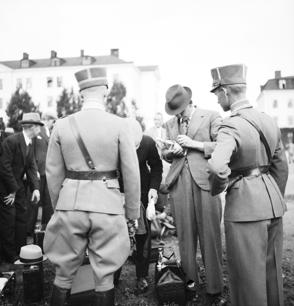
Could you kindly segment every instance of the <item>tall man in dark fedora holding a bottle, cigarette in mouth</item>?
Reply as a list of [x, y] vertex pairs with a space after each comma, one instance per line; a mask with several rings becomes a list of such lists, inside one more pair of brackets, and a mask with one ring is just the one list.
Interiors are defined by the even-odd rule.
[[170, 190], [172, 216], [175, 220], [180, 256], [188, 287], [189, 299], [197, 300], [200, 278], [197, 272], [197, 238], [205, 267], [206, 291], [214, 302], [226, 305], [222, 296], [222, 239], [220, 196], [212, 197], [207, 180], [207, 160], [215, 148], [215, 140], [222, 117], [216, 111], [202, 110], [192, 105], [192, 91], [174, 85], [166, 92], [165, 110], [175, 115], [166, 123], [166, 139], [175, 140], [181, 147], [163, 146], [162, 156], [171, 163], [166, 177]]

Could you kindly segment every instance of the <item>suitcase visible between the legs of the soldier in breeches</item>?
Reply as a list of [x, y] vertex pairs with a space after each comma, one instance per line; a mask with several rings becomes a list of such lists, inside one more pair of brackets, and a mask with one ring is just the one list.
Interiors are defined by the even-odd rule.
[[72, 290], [69, 306], [94, 305], [95, 281], [93, 269], [90, 265], [89, 256], [84, 259], [83, 265], [79, 267], [78, 272], [72, 282]]

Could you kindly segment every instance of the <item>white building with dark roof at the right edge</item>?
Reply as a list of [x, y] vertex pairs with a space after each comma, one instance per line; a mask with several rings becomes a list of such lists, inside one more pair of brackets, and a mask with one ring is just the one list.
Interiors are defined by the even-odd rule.
[[275, 78], [260, 90], [257, 109], [273, 117], [280, 129], [294, 128], [294, 76], [281, 77], [281, 71], [275, 71]]

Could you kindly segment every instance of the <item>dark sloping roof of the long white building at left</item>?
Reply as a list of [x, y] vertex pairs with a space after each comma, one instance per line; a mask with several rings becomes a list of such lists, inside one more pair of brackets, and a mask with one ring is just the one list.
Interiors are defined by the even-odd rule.
[[[132, 62], [123, 61], [122, 59], [118, 58], [115, 55], [91, 56], [91, 58], [93, 59], [91, 65], [110, 65], [110, 64], [132, 63]], [[60, 58], [60, 59], [61, 59], [60, 66], [81, 66], [83, 65], [82, 63], [83, 57]], [[29, 60], [30, 61], [29, 68], [52, 67], [51, 60], [52, 60], [51, 58]], [[20, 61], [0, 62], [0, 63], [12, 69], [21, 68], [21, 60]]]

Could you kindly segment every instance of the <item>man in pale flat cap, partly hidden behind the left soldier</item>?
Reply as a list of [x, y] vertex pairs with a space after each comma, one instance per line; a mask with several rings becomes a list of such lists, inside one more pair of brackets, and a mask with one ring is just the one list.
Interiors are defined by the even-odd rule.
[[[35, 160], [40, 174], [40, 202], [42, 204], [42, 224], [47, 224], [53, 215], [53, 208], [46, 180], [46, 155], [49, 144], [50, 133], [52, 132], [55, 121], [58, 120], [55, 110], [46, 109], [42, 112], [41, 127], [39, 135], [33, 139]], [[28, 233], [33, 233], [38, 218], [39, 203], [37, 205], [31, 200], [31, 194], [28, 190]]]

